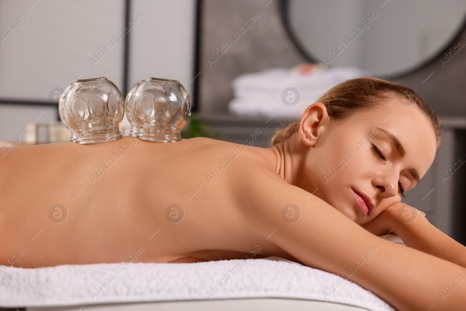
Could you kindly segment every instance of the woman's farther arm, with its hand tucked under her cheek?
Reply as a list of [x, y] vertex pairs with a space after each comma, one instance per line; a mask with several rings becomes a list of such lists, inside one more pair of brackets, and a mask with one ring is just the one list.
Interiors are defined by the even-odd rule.
[[432, 226], [421, 212], [407, 204], [387, 207], [362, 227], [376, 235], [392, 230], [406, 246], [466, 267], [466, 247]]

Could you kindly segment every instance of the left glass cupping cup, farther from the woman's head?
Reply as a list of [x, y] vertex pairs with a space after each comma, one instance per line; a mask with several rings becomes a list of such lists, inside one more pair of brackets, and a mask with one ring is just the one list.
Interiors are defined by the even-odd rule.
[[122, 138], [123, 95], [105, 77], [76, 80], [63, 91], [59, 102], [63, 124], [79, 144], [95, 144]]

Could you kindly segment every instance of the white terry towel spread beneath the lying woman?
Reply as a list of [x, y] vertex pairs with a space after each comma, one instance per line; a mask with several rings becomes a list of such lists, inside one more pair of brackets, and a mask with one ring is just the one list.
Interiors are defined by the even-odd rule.
[[[11, 267], [0, 276], [0, 306], [276, 297], [349, 304], [373, 311], [395, 310], [356, 283], [342, 280], [341, 276], [278, 257], [201, 263], [130, 263], [121, 267], [120, 263], [35, 269]], [[334, 282], [341, 285], [329, 290], [327, 286], [331, 287]]]

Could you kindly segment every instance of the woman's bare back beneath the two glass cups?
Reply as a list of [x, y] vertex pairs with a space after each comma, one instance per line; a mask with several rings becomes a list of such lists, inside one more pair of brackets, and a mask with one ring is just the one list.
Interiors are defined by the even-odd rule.
[[0, 163], [0, 263], [23, 246], [18, 267], [244, 258], [258, 238], [242, 205], [263, 190], [258, 172], [280, 179], [274, 157], [210, 138], [15, 147]]

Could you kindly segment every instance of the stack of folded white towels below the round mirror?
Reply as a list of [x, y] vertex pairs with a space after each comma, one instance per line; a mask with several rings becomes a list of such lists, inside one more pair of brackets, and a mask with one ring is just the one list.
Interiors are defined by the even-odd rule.
[[[239, 115], [300, 118], [305, 107], [315, 103], [327, 90], [345, 80], [368, 76], [354, 67], [325, 67], [322, 64], [301, 64], [292, 69], [274, 68], [247, 73], [233, 79], [234, 98], [228, 110]], [[288, 88], [298, 90], [299, 103], [284, 104], [283, 92]], [[285, 92], [288, 96], [288, 93]]]

